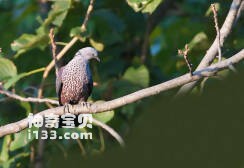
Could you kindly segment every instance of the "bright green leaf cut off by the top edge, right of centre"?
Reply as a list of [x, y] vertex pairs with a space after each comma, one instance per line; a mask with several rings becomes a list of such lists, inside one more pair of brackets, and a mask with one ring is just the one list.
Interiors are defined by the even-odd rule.
[[153, 13], [163, 0], [127, 0], [135, 12], [141, 11], [142, 13]]

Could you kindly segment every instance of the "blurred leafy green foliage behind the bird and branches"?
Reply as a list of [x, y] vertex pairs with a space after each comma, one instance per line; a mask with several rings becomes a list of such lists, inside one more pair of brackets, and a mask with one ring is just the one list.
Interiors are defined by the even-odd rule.
[[[84, 33], [79, 26], [83, 22], [88, 0], [0, 0], [0, 81], [5, 89], [14, 89], [17, 94], [37, 96], [43, 68], [52, 60], [48, 39], [50, 27], [55, 27], [58, 42], [68, 42], [74, 36], [83, 37], [82, 42], [76, 43], [68, 51], [59, 62], [60, 65], [66, 64], [82, 47], [93, 46], [100, 51], [101, 63], [92, 62], [94, 81], [98, 86], [94, 88], [91, 100], [110, 100], [184, 74], [188, 71], [187, 66], [184, 59], [177, 55], [177, 49], [189, 43], [189, 58], [195, 68], [215, 39], [212, 13], [209, 11], [213, 1], [176, 0], [170, 2], [165, 11], [160, 11], [165, 12], [162, 18], [150, 17], [157, 12], [156, 7], [166, 3], [165, 1], [96, 0], [87, 32]], [[231, 1], [217, 3], [219, 22], [222, 25]], [[142, 46], [147, 26], [152, 19], [157, 20], [157, 24], [149, 36], [148, 57], [142, 63]], [[243, 48], [243, 31], [242, 17], [224, 44], [225, 58]], [[62, 47], [60, 45], [58, 50]], [[243, 64], [237, 68], [243, 69]], [[221, 77], [231, 73], [225, 70]], [[216, 82], [219, 79], [211, 78], [205, 83], [199, 83], [192, 93], [200, 95]], [[45, 83], [44, 97], [56, 97], [54, 86], [55, 73], [52, 71]], [[161, 96], [174, 94], [175, 90]], [[45, 105], [23, 103], [4, 96], [0, 98], [0, 125], [18, 121], [30, 112], [47, 108]], [[161, 98], [154, 100], [161, 101]], [[151, 107], [151, 101], [134, 103], [116, 110], [115, 113], [108, 112], [106, 116], [100, 116], [100, 119], [115, 128], [123, 137], [128, 137], [134, 123], [140, 118], [141, 111], [150, 111], [148, 106]], [[60, 134], [62, 131], [60, 129]], [[106, 132], [98, 128], [93, 131], [93, 141], [82, 141], [88, 156], [117, 146]], [[25, 136], [26, 131], [23, 131], [21, 134], [0, 139], [0, 165], [29, 165], [31, 147], [36, 149], [38, 142], [24, 141]], [[56, 140], [46, 143], [45, 148], [48, 151], [45, 151], [45, 158], [61, 151], [65, 158], [78, 148], [76, 141]]]

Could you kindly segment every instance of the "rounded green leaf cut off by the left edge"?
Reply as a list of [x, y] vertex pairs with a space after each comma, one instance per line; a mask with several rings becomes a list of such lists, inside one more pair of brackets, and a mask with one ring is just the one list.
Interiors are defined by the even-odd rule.
[[17, 75], [16, 66], [6, 58], [0, 58], [0, 81]]

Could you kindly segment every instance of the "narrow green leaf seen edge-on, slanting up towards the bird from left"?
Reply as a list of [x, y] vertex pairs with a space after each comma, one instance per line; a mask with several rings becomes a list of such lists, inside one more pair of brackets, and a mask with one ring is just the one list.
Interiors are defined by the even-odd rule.
[[45, 68], [39, 68], [39, 69], [35, 69], [32, 70], [30, 72], [25, 72], [25, 73], [21, 73], [18, 75], [13, 76], [12, 78], [10, 78], [5, 84], [4, 84], [4, 88], [7, 90], [9, 89], [12, 85], [14, 85], [17, 81], [19, 81], [21, 78], [24, 78], [26, 76], [30, 76], [32, 74], [38, 73], [38, 72], [42, 72], [44, 71]]

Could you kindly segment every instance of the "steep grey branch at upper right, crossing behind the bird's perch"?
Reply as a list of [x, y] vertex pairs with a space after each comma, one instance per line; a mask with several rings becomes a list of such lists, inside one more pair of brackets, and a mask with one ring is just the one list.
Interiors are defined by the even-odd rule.
[[[224, 24], [220, 30], [220, 44], [223, 46], [223, 43], [227, 36], [230, 34], [236, 20], [237, 20], [237, 14], [238, 11], [240, 10], [242, 0], [233, 0], [229, 13], [224, 21]], [[211, 47], [208, 49], [206, 55], [203, 57], [201, 63], [198, 65], [196, 70], [200, 70], [203, 68], [206, 68], [209, 66], [216, 54], [218, 53], [218, 37], [215, 38], [213, 44]], [[176, 96], [183, 95], [188, 93], [194, 86], [196, 85], [196, 81], [188, 83], [187, 85], [184, 85], [180, 88]]]

